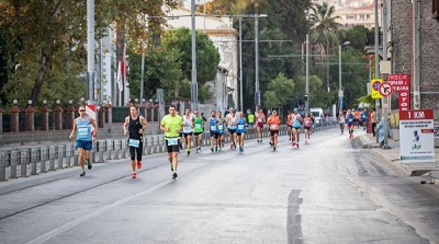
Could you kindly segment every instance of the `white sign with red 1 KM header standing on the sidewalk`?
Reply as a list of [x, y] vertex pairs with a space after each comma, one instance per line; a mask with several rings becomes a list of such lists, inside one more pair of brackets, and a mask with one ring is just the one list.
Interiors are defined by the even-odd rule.
[[434, 162], [433, 110], [401, 111], [399, 146], [401, 162]]

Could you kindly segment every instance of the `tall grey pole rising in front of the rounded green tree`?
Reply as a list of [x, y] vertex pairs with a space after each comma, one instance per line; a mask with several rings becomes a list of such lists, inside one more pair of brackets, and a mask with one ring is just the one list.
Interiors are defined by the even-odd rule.
[[190, 107], [192, 111], [198, 109], [198, 84], [197, 84], [197, 48], [196, 48], [196, 33], [195, 33], [195, 0], [190, 1], [190, 13], [192, 17], [192, 84], [191, 84], [191, 98]]

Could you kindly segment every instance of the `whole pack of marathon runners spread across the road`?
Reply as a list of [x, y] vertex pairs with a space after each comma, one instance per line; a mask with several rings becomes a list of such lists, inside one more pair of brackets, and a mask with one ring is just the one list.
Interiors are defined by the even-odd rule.
[[[79, 116], [73, 123], [70, 138], [72, 138], [76, 132], [76, 148], [79, 154], [79, 165], [82, 169], [80, 176], [85, 176], [84, 158], [87, 162], [88, 169], [91, 169], [90, 151], [93, 147], [93, 142], [95, 142], [98, 128], [95, 120], [86, 115], [84, 106], [80, 106], [78, 110]], [[261, 109], [259, 112], [256, 112], [251, 119], [252, 123], [256, 121], [256, 137], [258, 143], [263, 142], [263, 128], [264, 125], [268, 125], [268, 130], [270, 131], [270, 146], [276, 151], [280, 125], [277, 112], [272, 111], [270, 116], [266, 118]], [[238, 147], [239, 153], [244, 153], [246, 128], [248, 126], [252, 127], [253, 124], [247, 123], [242, 112], [230, 108], [226, 116], [223, 117], [221, 111], [216, 112], [213, 110], [210, 112], [210, 118], [204, 119], [199, 112], [192, 112], [190, 109], [185, 109], [185, 114], [182, 117], [178, 115], [176, 106], [171, 105], [169, 107], [169, 114], [165, 115], [160, 122], [160, 130], [164, 132], [172, 178], [175, 179], [178, 177], [178, 153], [180, 152], [180, 148], [183, 149], [183, 144], [185, 145], [187, 155], [190, 155], [193, 139], [196, 152], [201, 152], [203, 132], [206, 123], [210, 135], [210, 151], [213, 153], [222, 151], [228, 132], [230, 148], [233, 150]], [[288, 134], [290, 141], [292, 141], [293, 148], [299, 148], [301, 125], [303, 125], [305, 129], [305, 144], [309, 142], [309, 135], [313, 123], [314, 121], [309, 114], [305, 114], [305, 117], [302, 118], [302, 116], [298, 114], [298, 109], [294, 109], [293, 112], [290, 111], [288, 113]], [[143, 136], [147, 128], [148, 123], [144, 116], [139, 115], [135, 105], [130, 106], [130, 115], [125, 118], [125, 122], [123, 123], [123, 135], [128, 135], [132, 178], [137, 178], [136, 169], [141, 169]]]

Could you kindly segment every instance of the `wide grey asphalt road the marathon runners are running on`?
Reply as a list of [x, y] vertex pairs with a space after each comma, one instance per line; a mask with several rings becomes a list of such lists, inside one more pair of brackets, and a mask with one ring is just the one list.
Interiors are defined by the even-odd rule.
[[[303, 142], [303, 137], [302, 137]], [[0, 243], [439, 243], [437, 185], [399, 176], [336, 129], [0, 183]], [[227, 145], [226, 145], [227, 146]]]

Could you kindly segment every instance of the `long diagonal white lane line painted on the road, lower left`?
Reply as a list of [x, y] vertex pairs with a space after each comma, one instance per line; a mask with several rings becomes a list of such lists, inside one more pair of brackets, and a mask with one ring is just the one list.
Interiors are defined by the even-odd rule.
[[88, 213], [87, 215], [82, 216], [81, 218], [77, 218], [76, 220], [73, 220], [71, 222], [63, 224], [61, 227], [58, 227], [56, 229], [52, 229], [52, 231], [49, 231], [46, 234], [38, 236], [37, 238], [34, 238], [31, 241], [28, 241], [26, 244], [40, 244], [40, 243], [44, 243], [45, 241], [49, 241], [50, 238], [53, 238], [54, 236], [58, 236], [59, 234], [63, 233], [64, 231], [66, 231], [68, 229], [72, 229], [73, 227], [77, 226], [78, 224], [81, 224], [82, 222], [90, 220], [93, 217], [96, 217], [96, 216], [98, 216], [106, 211], [109, 211], [111, 208], [115, 208], [116, 206], [121, 206], [122, 204], [125, 204], [126, 202], [128, 202], [132, 199], [147, 195], [147, 194], [149, 194], [149, 193], [151, 193], [159, 188], [162, 188], [164, 185], [167, 185], [173, 181], [174, 180], [168, 180], [168, 181], [164, 181], [162, 183], [159, 183], [157, 185], [153, 185], [151, 188], [148, 188], [148, 189], [144, 190], [143, 192], [139, 192], [135, 195], [131, 195], [130, 197], [125, 197], [119, 201], [114, 202], [113, 204], [105, 206], [104, 208], [100, 208], [96, 211], [93, 211], [91, 213]]

